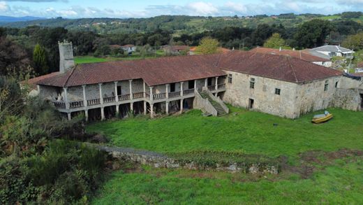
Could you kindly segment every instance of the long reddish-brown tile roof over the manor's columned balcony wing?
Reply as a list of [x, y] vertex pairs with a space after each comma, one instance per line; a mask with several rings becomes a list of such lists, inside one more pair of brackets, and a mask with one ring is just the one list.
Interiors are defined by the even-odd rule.
[[147, 85], [154, 86], [225, 76], [225, 73], [216, 67], [219, 57], [220, 55], [195, 55], [78, 64], [72, 71], [41, 80], [39, 84], [72, 87], [142, 78]]

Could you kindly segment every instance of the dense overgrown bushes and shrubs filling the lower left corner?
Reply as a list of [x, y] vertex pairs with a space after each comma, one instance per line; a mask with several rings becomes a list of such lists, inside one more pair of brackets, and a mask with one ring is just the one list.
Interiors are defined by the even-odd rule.
[[47, 102], [27, 97], [17, 78], [0, 77], [0, 204], [87, 203], [102, 182], [106, 155], [82, 139]]

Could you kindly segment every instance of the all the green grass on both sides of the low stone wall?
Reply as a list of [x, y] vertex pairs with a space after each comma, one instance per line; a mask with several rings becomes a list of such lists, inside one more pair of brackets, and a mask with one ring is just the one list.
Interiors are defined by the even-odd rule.
[[[126, 166], [110, 174], [92, 204], [362, 204], [362, 155], [305, 160], [299, 153], [363, 150], [363, 112], [329, 109], [334, 119], [313, 125], [313, 115], [297, 120], [230, 107], [225, 117], [200, 111], [159, 119], [146, 117], [96, 122], [87, 132], [103, 132], [111, 144], [179, 153], [187, 150], [243, 150], [277, 157], [297, 167], [313, 167], [304, 177]], [[274, 127], [273, 124], [278, 124]], [[337, 152], [334, 152], [336, 155]], [[307, 157], [306, 159], [309, 159]], [[134, 165], [135, 166], [135, 165]], [[292, 165], [295, 166], [295, 165]]]

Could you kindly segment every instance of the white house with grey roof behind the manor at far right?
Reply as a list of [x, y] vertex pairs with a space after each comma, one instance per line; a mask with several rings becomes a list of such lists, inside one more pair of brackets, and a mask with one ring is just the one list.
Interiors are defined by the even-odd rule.
[[[343, 48], [340, 45], [323, 45], [318, 48], [312, 48], [309, 49], [309, 52], [311, 55], [325, 55], [332, 59], [334, 56], [341, 56], [346, 58], [353, 58], [353, 50], [350, 50], [348, 48]], [[316, 54], [318, 53], [318, 55]]]

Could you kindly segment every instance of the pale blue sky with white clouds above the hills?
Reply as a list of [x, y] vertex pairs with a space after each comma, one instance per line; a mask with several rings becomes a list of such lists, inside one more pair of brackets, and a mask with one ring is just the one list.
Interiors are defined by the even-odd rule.
[[343, 11], [363, 11], [363, 0], [0, 0], [0, 15], [16, 17], [246, 16]]

